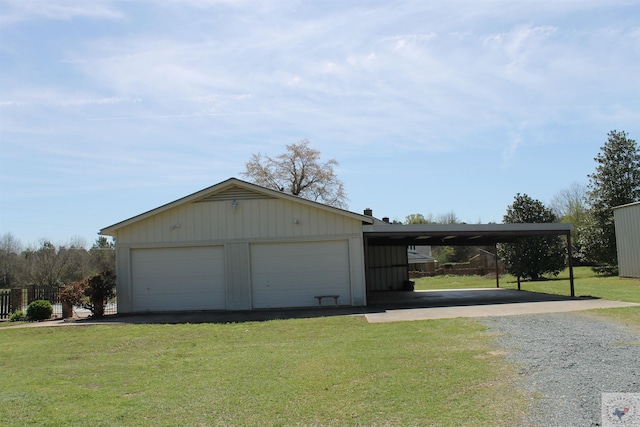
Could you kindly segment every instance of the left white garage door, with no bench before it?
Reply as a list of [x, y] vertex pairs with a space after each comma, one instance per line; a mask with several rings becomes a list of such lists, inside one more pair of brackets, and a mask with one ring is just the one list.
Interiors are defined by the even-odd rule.
[[134, 311], [225, 308], [224, 248], [132, 249]]

